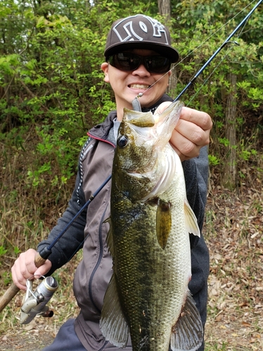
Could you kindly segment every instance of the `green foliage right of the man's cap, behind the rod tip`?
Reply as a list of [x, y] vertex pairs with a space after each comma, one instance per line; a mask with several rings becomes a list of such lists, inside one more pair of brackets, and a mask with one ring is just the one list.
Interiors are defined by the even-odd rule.
[[[181, 57], [186, 58], [174, 69], [176, 96], [255, 4], [236, 0], [171, 3], [174, 45]], [[229, 147], [237, 150], [238, 169], [243, 168], [244, 162], [256, 161], [251, 148], [260, 150], [261, 142], [255, 137], [262, 128], [263, 109], [263, 37], [259, 29], [263, 16], [260, 8], [262, 6], [233, 37], [232, 40], [237, 41], [238, 45], [227, 44], [182, 96], [186, 105], [205, 110], [212, 116], [214, 128], [211, 133], [210, 165], [219, 173], [224, 170]], [[231, 91], [229, 72], [237, 76], [237, 144], [233, 146], [226, 138], [225, 130], [226, 98]]]

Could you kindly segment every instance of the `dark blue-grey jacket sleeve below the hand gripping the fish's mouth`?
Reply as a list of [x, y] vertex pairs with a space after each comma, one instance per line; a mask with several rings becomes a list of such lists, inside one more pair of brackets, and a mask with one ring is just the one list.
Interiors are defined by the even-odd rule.
[[[205, 204], [207, 200], [208, 182], [208, 156], [207, 147], [202, 147], [199, 157], [182, 162], [184, 178], [186, 180], [186, 196], [198, 220], [200, 232], [205, 217]], [[191, 247], [198, 243], [198, 237], [190, 234]]]

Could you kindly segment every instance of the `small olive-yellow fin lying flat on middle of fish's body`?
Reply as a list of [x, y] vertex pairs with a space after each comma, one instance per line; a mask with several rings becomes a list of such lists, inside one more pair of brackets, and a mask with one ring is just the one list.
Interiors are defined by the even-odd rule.
[[162, 249], [165, 249], [169, 234], [172, 227], [171, 204], [158, 199], [156, 213], [156, 235], [158, 243]]

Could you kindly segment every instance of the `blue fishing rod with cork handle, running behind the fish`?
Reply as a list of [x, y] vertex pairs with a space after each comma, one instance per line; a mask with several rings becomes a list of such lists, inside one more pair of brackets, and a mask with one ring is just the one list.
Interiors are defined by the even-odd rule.
[[[250, 18], [252, 13], [262, 3], [262, 1], [263, 0], [260, 0], [254, 6], [254, 8], [252, 8], [250, 13], [248, 13], [248, 15], [245, 16], [245, 18], [240, 22], [240, 24], [233, 30], [233, 32], [229, 35], [229, 37], [224, 41], [222, 46], [220, 46], [217, 49], [217, 51], [215, 51], [213, 53], [213, 55], [210, 57], [210, 59], [207, 60], [207, 62], [205, 62], [205, 65], [203, 65], [203, 67], [200, 68], [200, 70], [195, 74], [193, 79], [191, 79], [191, 81], [186, 85], [186, 87], [183, 89], [183, 91], [181, 91], [181, 93], [177, 96], [177, 98], [174, 99], [174, 102], [179, 100], [181, 95], [189, 88], [189, 86], [191, 86], [191, 84], [193, 84], [195, 79], [203, 72], [203, 70], [208, 65], [210, 65], [210, 62], [212, 62], [212, 60], [222, 50], [222, 48], [224, 48], [224, 46], [226, 46], [226, 44], [229, 43], [231, 37], [233, 37], [233, 35], [236, 34], [236, 32], [238, 31], [238, 29], [248, 20], [248, 18]], [[139, 94], [139, 97], [140, 96], [142, 96], [142, 94], [141, 95]], [[134, 99], [133, 107], [134, 107], [134, 110], [137, 110], [137, 111], [141, 110], [141, 105], [140, 105], [138, 98]], [[49, 246], [47, 246], [45, 249], [42, 249], [39, 253], [37, 253], [37, 256], [35, 257], [35, 260], [34, 260], [34, 264], [36, 265], [36, 267], [40, 267], [41, 265], [44, 265], [44, 263], [46, 262], [46, 259], [49, 258], [49, 255], [51, 254], [51, 249], [53, 248], [53, 246], [58, 242], [60, 237], [62, 237], [63, 234], [65, 234], [65, 232], [68, 230], [68, 228], [72, 225], [72, 223], [75, 222], [75, 220], [80, 216], [80, 214], [84, 211], [84, 209], [89, 206], [91, 201], [98, 195], [98, 193], [101, 192], [101, 190], [103, 189], [103, 187], [105, 187], [105, 185], [108, 183], [110, 178], [111, 178], [111, 175], [108, 176], [108, 178], [105, 180], [105, 182], [100, 187], [98, 187], [98, 190], [96, 190], [96, 192], [94, 192], [94, 194], [90, 197], [90, 199], [88, 201], [86, 201], [86, 204], [84, 204], [84, 206], [82, 208], [80, 208], [80, 210], [77, 212], [77, 214], [72, 218], [72, 220], [70, 220], [70, 223], [68, 223], [68, 225], [66, 225], [66, 227], [64, 228], [64, 230], [62, 232], [60, 232], [60, 234], [58, 234], [58, 237], [56, 237], [56, 239], [54, 239], [53, 242]], [[20, 289], [15, 284], [13, 284], [13, 283], [11, 284], [11, 286], [6, 290], [4, 295], [0, 298], [0, 312], [2, 310], [4, 310], [4, 307], [6, 307], [6, 305], [8, 305], [8, 303], [18, 293], [19, 290]]]

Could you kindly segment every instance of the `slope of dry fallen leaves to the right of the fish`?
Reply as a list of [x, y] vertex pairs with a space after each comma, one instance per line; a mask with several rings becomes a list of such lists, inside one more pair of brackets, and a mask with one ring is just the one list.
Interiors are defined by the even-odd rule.
[[238, 196], [213, 185], [210, 191], [205, 350], [262, 350], [262, 187], [243, 187]]

